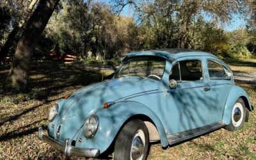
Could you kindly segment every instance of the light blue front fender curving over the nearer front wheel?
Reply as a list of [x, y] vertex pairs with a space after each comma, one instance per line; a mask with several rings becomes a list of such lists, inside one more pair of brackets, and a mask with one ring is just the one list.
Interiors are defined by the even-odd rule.
[[[91, 139], [84, 138], [84, 131], [81, 129], [77, 138], [82, 138], [81, 148], [99, 148], [100, 153], [106, 151], [115, 140], [118, 131], [131, 116], [145, 115], [150, 118], [157, 127], [159, 137], [163, 147], [168, 146], [168, 140], [164, 132], [164, 127], [157, 115], [147, 106], [133, 101], [116, 102], [109, 108], [99, 109], [95, 115], [99, 117], [99, 127], [95, 136]], [[76, 146], [77, 146], [76, 145]]]

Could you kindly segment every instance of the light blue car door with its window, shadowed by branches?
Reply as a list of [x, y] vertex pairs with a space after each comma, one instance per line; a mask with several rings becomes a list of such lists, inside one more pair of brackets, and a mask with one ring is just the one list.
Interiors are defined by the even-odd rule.
[[169, 79], [177, 81], [176, 88], [170, 88], [166, 100], [166, 125], [168, 133], [188, 131], [210, 124], [211, 97], [205, 79], [205, 60], [186, 58], [172, 63]]

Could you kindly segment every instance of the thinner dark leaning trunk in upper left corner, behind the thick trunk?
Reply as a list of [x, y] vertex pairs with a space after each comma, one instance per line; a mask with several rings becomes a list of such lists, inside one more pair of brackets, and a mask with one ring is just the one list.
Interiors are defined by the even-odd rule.
[[38, 0], [32, 0], [28, 6], [28, 9], [25, 12], [25, 14], [26, 14], [25, 18], [13, 25], [14, 27], [13, 27], [11, 33], [9, 33], [7, 40], [4, 43], [4, 46], [2, 47], [2, 49], [0, 51], [0, 61], [2, 61], [4, 56], [6, 56], [6, 54], [8, 52], [10, 52], [11, 47], [13, 47], [13, 48], [17, 47], [16, 44], [19, 40], [19, 36], [21, 35], [20, 32], [24, 28], [24, 24], [26, 24], [26, 22], [28, 21], [28, 18], [31, 15], [31, 11], [33, 10], [37, 1]]

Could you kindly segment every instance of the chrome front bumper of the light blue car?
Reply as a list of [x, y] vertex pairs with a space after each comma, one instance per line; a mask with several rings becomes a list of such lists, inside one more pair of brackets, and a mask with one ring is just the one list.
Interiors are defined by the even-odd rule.
[[81, 156], [81, 157], [98, 157], [100, 150], [93, 148], [78, 148], [72, 145], [68, 145], [69, 140], [65, 140], [65, 143], [61, 143], [60, 141], [56, 141], [53, 138], [44, 134], [42, 127], [38, 129], [38, 138], [40, 140], [45, 141], [52, 147], [61, 150], [64, 154], [68, 156]]

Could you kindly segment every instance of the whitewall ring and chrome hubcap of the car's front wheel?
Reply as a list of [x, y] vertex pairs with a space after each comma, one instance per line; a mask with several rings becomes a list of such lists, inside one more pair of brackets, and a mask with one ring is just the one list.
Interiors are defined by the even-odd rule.
[[131, 154], [132, 160], [141, 160], [145, 148], [145, 134], [139, 129], [132, 139]]

